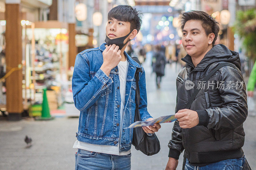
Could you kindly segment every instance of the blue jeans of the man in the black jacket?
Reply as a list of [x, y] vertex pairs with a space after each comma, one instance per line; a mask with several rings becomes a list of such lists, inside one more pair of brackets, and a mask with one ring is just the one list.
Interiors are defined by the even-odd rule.
[[185, 170], [242, 170], [244, 165], [245, 157], [237, 159], [227, 159], [219, 162], [215, 162], [206, 166], [192, 166], [188, 164], [186, 160]]

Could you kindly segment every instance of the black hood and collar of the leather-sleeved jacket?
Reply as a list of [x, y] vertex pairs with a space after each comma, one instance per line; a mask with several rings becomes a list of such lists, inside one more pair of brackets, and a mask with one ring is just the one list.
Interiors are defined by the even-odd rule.
[[[182, 61], [186, 62], [191, 67], [195, 67], [192, 63], [192, 59], [190, 55], [186, 55], [184, 58], [181, 59]], [[229, 62], [236, 65], [236, 67], [241, 70], [241, 63], [239, 54], [235, 51], [229, 50], [223, 44], [218, 44], [212, 47], [208, 53], [204, 56], [199, 64], [197, 64], [194, 70], [204, 70], [210, 64], [216, 62]]]

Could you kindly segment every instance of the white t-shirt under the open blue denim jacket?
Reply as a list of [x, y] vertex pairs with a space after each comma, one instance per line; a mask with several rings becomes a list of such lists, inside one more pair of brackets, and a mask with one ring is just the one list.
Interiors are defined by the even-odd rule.
[[123, 118], [124, 118], [124, 98], [125, 98], [125, 87], [126, 87], [126, 77], [127, 77], [127, 68], [128, 63], [126, 61], [120, 61], [117, 65], [118, 67], [118, 74], [119, 74], [119, 80], [120, 80], [120, 95], [121, 95], [121, 108], [120, 108], [120, 115], [121, 115], [121, 121], [120, 121], [120, 131], [119, 131], [119, 144], [118, 146], [108, 146], [108, 145], [96, 145], [96, 144], [88, 144], [84, 142], [80, 142], [76, 140], [75, 144], [73, 145], [73, 148], [79, 148], [87, 151], [92, 152], [100, 152], [100, 153], [107, 153], [112, 155], [128, 155], [131, 153], [131, 150], [127, 152], [119, 152], [120, 149], [120, 140], [121, 140], [121, 133], [122, 133], [122, 127], [123, 127]]

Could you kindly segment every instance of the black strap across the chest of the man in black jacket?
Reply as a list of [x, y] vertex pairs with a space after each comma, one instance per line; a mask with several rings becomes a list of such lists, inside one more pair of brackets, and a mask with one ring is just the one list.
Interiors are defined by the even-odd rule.
[[[204, 77], [204, 79], [202, 80], [202, 82], [207, 82], [210, 77], [212, 77], [212, 75], [217, 71], [219, 70], [221, 67], [224, 67], [224, 66], [231, 66], [233, 67], [234, 69], [236, 69], [236, 67], [234, 65], [232, 65], [231, 63], [221, 63], [219, 64], [215, 69], [213, 69], [207, 76]], [[188, 104], [186, 105], [186, 108], [187, 109], [190, 109], [190, 106], [192, 104], [192, 102], [195, 100], [196, 98], [196, 95], [198, 94], [198, 92], [201, 90], [202, 88], [199, 88], [197, 89], [197, 86], [195, 85], [194, 87], [194, 93], [192, 94], [192, 96], [190, 97], [189, 101], [188, 101]]]

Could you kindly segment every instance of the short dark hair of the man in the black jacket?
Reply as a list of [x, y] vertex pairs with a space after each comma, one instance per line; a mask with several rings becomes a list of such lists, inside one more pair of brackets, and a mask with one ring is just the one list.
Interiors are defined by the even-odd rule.
[[189, 20], [198, 20], [201, 21], [202, 27], [206, 35], [214, 33], [215, 37], [212, 41], [212, 46], [214, 46], [215, 41], [217, 40], [218, 33], [220, 31], [219, 22], [216, 21], [211, 15], [207, 14], [204, 11], [188, 11], [180, 14], [180, 27], [181, 30], [184, 29], [184, 26]]

